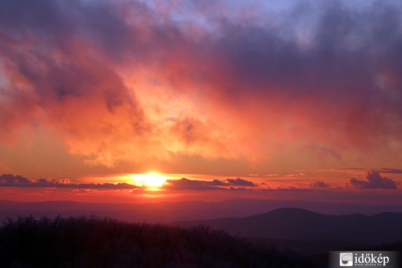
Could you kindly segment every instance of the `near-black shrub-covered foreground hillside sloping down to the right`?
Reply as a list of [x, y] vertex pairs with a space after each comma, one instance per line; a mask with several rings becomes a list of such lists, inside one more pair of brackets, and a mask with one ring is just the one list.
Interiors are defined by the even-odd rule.
[[2, 267], [323, 267], [323, 256], [254, 245], [208, 226], [95, 216], [19, 217], [0, 229]]

